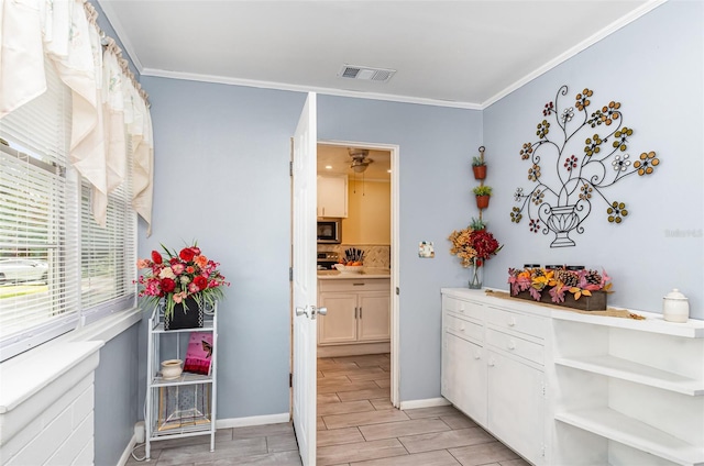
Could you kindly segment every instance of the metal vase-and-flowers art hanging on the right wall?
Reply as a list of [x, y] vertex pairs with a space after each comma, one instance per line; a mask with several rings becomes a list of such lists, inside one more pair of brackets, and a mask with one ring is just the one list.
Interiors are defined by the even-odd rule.
[[583, 223], [592, 203], [605, 203], [603, 213], [608, 222], [620, 224], [628, 215], [626, 202], [612, 199], [605, 191], [632, 175], [652, 175], [660, 164], [654, 152], [630, 156], [628, 146], [634, 135], [624, 126], [620, 102], [610, 101], [590, 111], [593, 91], [584, 89], [574, 101], [561, 106], [568, 95], [562, 86], [554, 101], [542, 109], [538, 123], [538, 141], [520, 148], [520, 158], [530, 164], [528, 179], [535, 187], [526, 192], [517, 188], [517, 207], [510, 219], [520, 223], [528, 217], [532, 233], [554, 234], [550, 247], [574, 246], [570, 233], [584, 233]]

